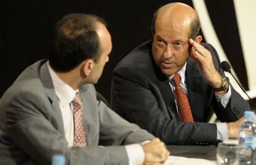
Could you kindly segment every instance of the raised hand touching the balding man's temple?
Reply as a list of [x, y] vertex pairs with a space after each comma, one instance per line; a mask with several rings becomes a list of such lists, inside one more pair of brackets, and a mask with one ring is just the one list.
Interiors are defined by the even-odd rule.
[[189, 43], [192, 45], [190, 57], [197, 63], [203, 76], [208, 80], [211, 87], [221, 87], [221, 75], [215, 69], [210, 51], [191, 38]]

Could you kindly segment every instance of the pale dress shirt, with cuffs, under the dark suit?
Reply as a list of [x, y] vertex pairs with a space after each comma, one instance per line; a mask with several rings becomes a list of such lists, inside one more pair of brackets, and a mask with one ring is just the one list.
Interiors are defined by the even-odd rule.
[[[179, 70], [177, 73], [181, 75], [181, 88], [187, 95], [187, 85], [185, 83], [186, 68], [187, 68], [187, 62], [186, 64], [184, 64], [182, 69]], [[169, 84], [171, 86], [171, 90], [174, 93], [175, 86], [173, 85], [173, 80], [171, 80], [172, 78], [173, 78], [173, 75], [169, 77], [169, 80], [170, 80]], [[219, 95], [215, 95], [215, 96], [217, 101], [221, 102], [222, 106], [225, 108], [231, 97], [231, 88], [228, 89], [228, 92], [224, 96], [219, 96]], [[175, 103], [176, 103], [176, 99], [175, 99]], [[176, 103], [176, 109], [177, 109], [177, 113], [179, 114], [177, 103]], [[216, 123], [216, 127], [217, 127], [217, 140], [228, 140], [228, 125], [226, 124], [226, 122]]]

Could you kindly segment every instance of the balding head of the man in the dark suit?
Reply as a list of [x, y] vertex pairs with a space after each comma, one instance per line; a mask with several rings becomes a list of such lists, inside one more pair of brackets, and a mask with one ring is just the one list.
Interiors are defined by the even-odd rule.
[[194, 9], [182, 3], [167, 4], [156, 12], [152, 55], [163, 74], [173, 75], [186, 64], [192, 49], [189, 38], [202, 40], [197, 22]]

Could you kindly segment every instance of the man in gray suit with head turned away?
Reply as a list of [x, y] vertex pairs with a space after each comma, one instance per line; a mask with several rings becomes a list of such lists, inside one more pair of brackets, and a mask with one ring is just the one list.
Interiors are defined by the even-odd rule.
[[75, 165], [166, 160], [163, 142], [96, 99], [92, 83], [111, 49], [103, 19], [70, 14], [58, 22], [49, 61], [25, 69], [1, 98], [0, 164], [51, 164], [56, 153]]

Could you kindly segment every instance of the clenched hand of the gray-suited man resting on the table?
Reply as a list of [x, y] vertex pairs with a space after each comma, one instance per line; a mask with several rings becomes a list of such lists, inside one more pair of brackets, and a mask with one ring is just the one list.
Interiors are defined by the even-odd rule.
[[168, 158], [169, 151], [159, 138], [154, 138], [151, 142], [142, 145], [145, 153], [144, 165], [163, 164]]

